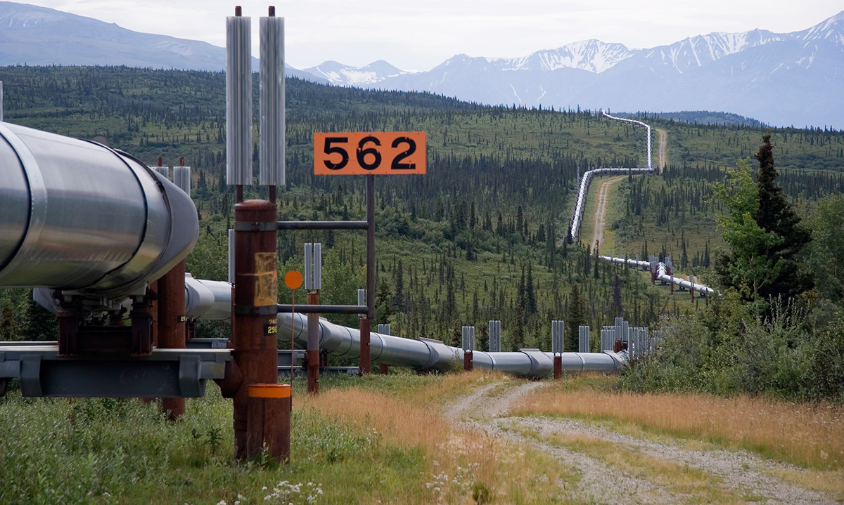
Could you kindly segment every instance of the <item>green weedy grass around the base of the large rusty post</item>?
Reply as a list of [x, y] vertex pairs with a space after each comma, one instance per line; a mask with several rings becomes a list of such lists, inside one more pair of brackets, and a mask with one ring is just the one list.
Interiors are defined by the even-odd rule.
[[[280, 503], [264, 497], [288, 481], [319, 486], [319, 503], [354, 503], [425, 488], [419, 450], [381, 443], [371, 430], [307, 409], [294, 412], [289, 465], [235, 461], [231, 401], [208, 390], [207, 398], [187, 400], [178, 422], [138, 400], [10, 393], [0, 402], [0, 502], [216, 504], [241, 495], [241, 503]], [[294, 493], [291, 501], [305, 498]]]

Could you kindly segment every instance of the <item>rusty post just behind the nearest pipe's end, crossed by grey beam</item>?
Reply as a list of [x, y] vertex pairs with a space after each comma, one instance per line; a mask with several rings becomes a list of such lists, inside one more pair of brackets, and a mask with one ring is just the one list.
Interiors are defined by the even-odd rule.
[[[185, 348], [185, 262], [158, 280], [158, 347]], [[162, 398], [159, 410], [170, 421], [185, 413], [184, 398]]]

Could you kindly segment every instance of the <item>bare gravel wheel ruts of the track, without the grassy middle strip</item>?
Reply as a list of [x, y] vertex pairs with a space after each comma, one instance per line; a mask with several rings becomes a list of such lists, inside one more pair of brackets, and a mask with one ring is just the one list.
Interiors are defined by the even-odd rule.
[[[580, 479], [574, 486], [562, 484], [565, 492], [599, 503], [642, 503], [669, 505], [677, 502], [699, 502], [701, 497], [687, 497], [670, 486], [647, 478], [630, 475], [588, 454], [550, 443], [550, 436], [586, 436], [653, 459], [702, 470], [719, 486], [740, 499], [765, 502], [767, 505], [832, 505], [841, 503], [823, 492], [793, 486], [770, 475], [775, 470], [799, 470], [794, 465], [762, 459], [746, 451], [684, 449], [675, 443], [662, 443], [631, 437], [586, 422], [546, 417], [508, 416], [511, 406], [523, 395], [537, 391], [547, 383], [530, 382], [517, 385], [484, 384], [468, 395], [446, 406], [445, 414], [453, 422], [476, 427], [500, 438], [527, 445], [549, 454], [561, 465], [572, 467]], [[521, 432], [536, 432], [538, 437]]]

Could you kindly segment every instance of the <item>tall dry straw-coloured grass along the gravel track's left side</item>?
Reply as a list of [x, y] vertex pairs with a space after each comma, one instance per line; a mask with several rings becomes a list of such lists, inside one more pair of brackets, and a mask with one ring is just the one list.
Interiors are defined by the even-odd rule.
[[557, 495], [558, 481], [571, 475], [561, 475], [543, 455], [527, 454], [482, 429], [458, 427], [441, 415], [438, 406], [425, 401], [483, 380], [474, 374], [446, 376], [418, 391], [414, 399], [356, 388], [331, 389], [301, 400], [300, 406], [376, 430], [384, 443], [421, 450], [429, 482], [417, 496], [419, 502], [476, 502], [484, 492], [489, 493], [487, 501], [511, 503]]

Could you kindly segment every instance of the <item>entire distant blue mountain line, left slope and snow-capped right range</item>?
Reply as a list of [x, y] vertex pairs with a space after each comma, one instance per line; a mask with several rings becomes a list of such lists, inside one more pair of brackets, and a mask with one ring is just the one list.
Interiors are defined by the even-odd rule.
[[[225, 69], [225, 48], [51, 8], [0, 2], [0, 25], [0, 65]], [[484, 105], [725, 110], [771, 126], [841, 129], [844, 100], [836, 97], [844, 96], [844, 11], [788, 34], [711, 32], [644, 49], [579, 40], [516, 58], [458, 54], [425, 72], [383, 60], [286, 71], [317, 83], [425, 91]]]

